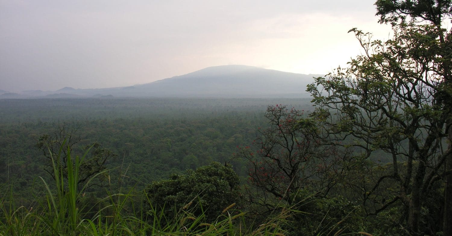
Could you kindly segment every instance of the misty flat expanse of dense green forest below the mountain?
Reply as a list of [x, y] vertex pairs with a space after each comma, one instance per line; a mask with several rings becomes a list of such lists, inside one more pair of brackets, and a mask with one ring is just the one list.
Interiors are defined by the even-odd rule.
[[[3, 100], [0, 175], [5, 184], [21, 183], [15, 190], [29, 192], [38, 175], [46, 176], [38, 139], [63, 126], [80, 136], [78, 154], [93, 142], [118, 154], [107, 166], [126, 165], [130, 185], [144, 186], [212, 161], [235, 163], [230, 157], [236, 146], [255, 139], [257, 128], [267, 125], [267, 105], [278, 102], [311, 107], [309, 99]], [[243, 166], [234, 165], [239, 172]]]

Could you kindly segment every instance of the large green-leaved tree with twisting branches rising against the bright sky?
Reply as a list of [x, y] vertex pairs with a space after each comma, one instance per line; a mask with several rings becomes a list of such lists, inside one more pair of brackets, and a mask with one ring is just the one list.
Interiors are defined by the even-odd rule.
[[[452, 34], [442, 22], [451, 19], [451, 1], [376, 5], [381, 23], [393, 26], [392, 38], [374, 41], [369, 33], [350, 30], [364, 54], [308, 86], [316, 106], [311, 118], [324, 127], [324, 142], [353, 147], [355, 160], [371, 165], [357, 188], [368, 215], [401, 203], [401, 223], [410, 233], [441, 231], [421, 221], [421, 209], [438, 182], [447, 181], [443, 228], [450, 235]], [[382, 165], [368, 160], [377, 152], [391, 158], [389, 172], [374, 171]]]

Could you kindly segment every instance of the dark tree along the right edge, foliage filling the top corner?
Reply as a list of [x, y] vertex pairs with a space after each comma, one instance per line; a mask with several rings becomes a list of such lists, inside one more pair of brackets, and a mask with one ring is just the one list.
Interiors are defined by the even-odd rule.
[[[438, 53], [438, 74], [442, 76], [441, 87], [437, 91], [437, 95], [441, 97], [441, 102], [445, 104], [444, 112], [447, 115], [446, 134], [449, 140], [448, 150], [452, 149], [452, 101], [451, 97], [451, 81], [452, 81], [452, 29], [449, 32], [443, 28], [443, 22], [448, 19], [452, 22], [452, 1], [451, 0], [418, 0], [418, 1], [395, 1], [395, 0], [378, 0], [377, 15], [380, 15], [381, 23], [395, 23], [397, 20], [404, 20], [406, 16], [413, 19], [422, 19], [430, 23], [437, 30], [437, 41], [440, 48]], [[446, 155], [445, 169], [452, 170], [452, 152]], [[444, 235], [452, 235], [452, 173], [446, 173], [444, 188], [444, 216], [443, 216], [443, 233]]]

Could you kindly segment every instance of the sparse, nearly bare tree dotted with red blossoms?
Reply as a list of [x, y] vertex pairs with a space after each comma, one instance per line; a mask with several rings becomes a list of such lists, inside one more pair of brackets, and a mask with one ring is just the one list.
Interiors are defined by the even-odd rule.
[[320, 143], [319, 127], [315, 120], [303, 118], [303, 111], [268, 106], [265, 117], [270, 127], [259, 128], [253, 145], [237, 146], [234, 153], [249, 166], [250, 203], [270, 212], [281, 200], [293, 204], [301, 191], [325, 197], [341, 175], [348, 153]]

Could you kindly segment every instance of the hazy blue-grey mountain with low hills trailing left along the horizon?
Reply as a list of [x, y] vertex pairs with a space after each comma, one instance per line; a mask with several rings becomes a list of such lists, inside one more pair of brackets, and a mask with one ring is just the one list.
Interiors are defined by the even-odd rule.
[[[118, 88], [24, 91], [26, 97], [307, 97], [306, 85], [321, 75], [296, 74], [247, 65], [222, 65], [151, 83]], [[16, 96], [14, 96], [16, 97]]]

